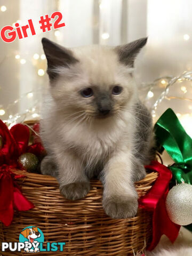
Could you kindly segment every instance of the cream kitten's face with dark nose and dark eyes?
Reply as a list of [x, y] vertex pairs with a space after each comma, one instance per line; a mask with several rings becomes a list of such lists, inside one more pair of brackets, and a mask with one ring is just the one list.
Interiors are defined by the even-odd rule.
[[[126, 63], [121, 49], [93, 45], [67, 50], [65, 54], [61, 49], [57, 64], [53, 64], [54, 57], [47, 54], [45, 46], [44, 50], [52, 96], [58, 109], [74, 120], [76, 117], [85, 121], [113, 118], [129, 110], [135, 102], [131, 58]], [[51, 51], [53, 56], [58, 54]], [[68, 63], [63, 65], [66, 54]]]

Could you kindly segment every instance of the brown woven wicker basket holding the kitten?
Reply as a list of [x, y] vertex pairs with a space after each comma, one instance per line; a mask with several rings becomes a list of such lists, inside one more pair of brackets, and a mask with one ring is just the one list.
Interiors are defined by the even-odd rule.
[[[139, 210], [131, 219], [111, 219], [102, 208], [102, 184], [91, 180], [90, 193], [81, 200], [69, 201], [60, 195], [57, 180], [41, 174], [14, 171], [26, 178], [18, 179], [22, 193], [35, 208], [15, 212], [9, 227], [0, 223], [0, 241], [19, 242], [21, 230], [36, 226], [46, 242], [66, 242], [63, 252], [39, 252], [38, 255], [135, 255], [145, 248], [151, 237], [151, 214]], [[157, 178], [149, 173], [135, 183], [139, 196], [145, 195]], [[134, 253], [133, 253], [134, 252]], [[26, 255], [2, 252], [2, 255]]]

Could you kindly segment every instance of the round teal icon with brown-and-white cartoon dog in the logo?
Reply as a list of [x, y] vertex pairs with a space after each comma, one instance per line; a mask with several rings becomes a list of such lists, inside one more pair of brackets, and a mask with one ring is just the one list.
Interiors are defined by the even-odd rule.
[[44, 242], [44, 235], [37, 227], [27, 227], [19, 235], [19, 242], [25, 243], [25, 252], [38, 252], [39, 243]]

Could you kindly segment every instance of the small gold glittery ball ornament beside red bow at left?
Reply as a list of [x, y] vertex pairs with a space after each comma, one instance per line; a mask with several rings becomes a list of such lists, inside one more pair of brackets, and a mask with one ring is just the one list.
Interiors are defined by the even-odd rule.
[[18, 159], [19, 165], [28, 172], [35, 172], [38, 162], [38, 158], [32, 153], [24, 153]]

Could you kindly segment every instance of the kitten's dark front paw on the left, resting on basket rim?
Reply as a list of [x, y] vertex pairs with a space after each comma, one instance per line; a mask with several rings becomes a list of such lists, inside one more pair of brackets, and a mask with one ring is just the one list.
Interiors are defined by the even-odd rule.
[[60, 187], [61, 194], [70, 200], [77, 200], [85, 197], [89, 190], [89, 182], [75, 182]]

